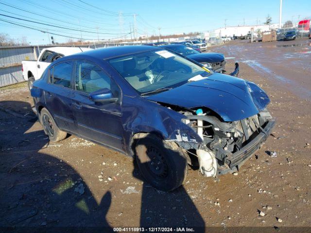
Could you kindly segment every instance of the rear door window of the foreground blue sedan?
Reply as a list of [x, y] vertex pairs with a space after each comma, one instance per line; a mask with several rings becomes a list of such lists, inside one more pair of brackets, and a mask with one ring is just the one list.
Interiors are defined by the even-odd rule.
[[72, 61], [62, 62], [50, 69], [50, 83], [71, 88]]

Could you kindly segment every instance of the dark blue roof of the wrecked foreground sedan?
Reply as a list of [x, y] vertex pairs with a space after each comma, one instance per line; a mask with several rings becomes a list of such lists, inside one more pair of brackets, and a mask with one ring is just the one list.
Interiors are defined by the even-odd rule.
[[104, 49], [89, 50], [86, 52], [81, 52], [77, 55], [86, 55], [98, 59], [108, 59], [112, 57], [119, 57], [122, 55], [144, 52], [144, 51], [156, 51], [160, 50], [155, 46], [148, 45], [137, 45], [137, 46], [119, 46], [119, 47], [108, 47]]

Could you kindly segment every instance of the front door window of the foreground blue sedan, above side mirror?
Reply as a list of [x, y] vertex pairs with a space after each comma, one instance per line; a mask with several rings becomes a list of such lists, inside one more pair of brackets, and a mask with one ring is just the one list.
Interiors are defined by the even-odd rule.
[[100, 89], [111, 88], [111, 79], [95, 64], [77, 61], [75, 72], [75, 88], [78, 91], [91, 93]]

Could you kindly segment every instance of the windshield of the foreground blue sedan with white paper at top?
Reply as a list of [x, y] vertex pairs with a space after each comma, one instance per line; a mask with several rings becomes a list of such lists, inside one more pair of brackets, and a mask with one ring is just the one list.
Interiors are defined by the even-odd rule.
[[121, 76], [138, 92], [176, 87], [188, 80], [200, 80], [212, 71], [167, 50], [146, 51], [109, 60]]

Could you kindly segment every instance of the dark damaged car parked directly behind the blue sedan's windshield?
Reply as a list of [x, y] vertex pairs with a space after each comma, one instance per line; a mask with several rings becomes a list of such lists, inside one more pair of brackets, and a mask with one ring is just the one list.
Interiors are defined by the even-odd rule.
[[[187, 47], [184, 45], [177, 45], [177, 44], [164, 45], [160, 47], [177, 52], [183, 56], [186, 56], [202, 64], [208, 69], [213, 69], [215, 72], [223, 72], [225, 70], [226, 61], [225, 61], [225, 56], [222, 53], [216, 53], [216, 52], [200, 53], [196, 50], [193, 50], [190, 47]], [[239, 69], [240, 69], [239, 65], [237, 65], [235, 71], [232, 72], [230, 75], [238, 76]]]

